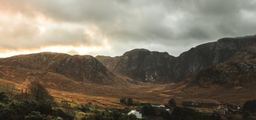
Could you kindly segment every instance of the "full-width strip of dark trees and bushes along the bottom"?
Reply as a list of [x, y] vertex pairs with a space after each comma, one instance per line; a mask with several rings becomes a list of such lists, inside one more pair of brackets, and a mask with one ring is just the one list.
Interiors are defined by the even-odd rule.
[[[54, 100], [39, 82], [32, 82], [28, 94], [22, 95], [12, 84], [0, 84], [0, 119], [137, 119], [133, 114], [136, 109], [142, 113], [143, 119], [251, 119], [256, 115], [256, 100], [247, 101], [240, 111], [232, 111], [231, 115], [205, 114], [189, 107], [179, 107], [174, 99], [170, 99], [165, 107], [153, 107], [150, 103], [134, 103], [132, 98], [121, 98], [125, 109], [104, 108], [92, 103], [75, 104]], [[27, 92], [26, 92], [27, 93]], [[191, 106], [190, 102], [183, 105]], [[197, 106], [209, 104], [198, 104]], [[211, 105], [210, 106], [216, 106]], [[232, 107], [232, 106], [231, 106]], [[230, 108], [231, 108], [230, 107]], [[166, 110], [168, 109], [168, 110]], [[242, 117], [235, 116], [241, 114]]]

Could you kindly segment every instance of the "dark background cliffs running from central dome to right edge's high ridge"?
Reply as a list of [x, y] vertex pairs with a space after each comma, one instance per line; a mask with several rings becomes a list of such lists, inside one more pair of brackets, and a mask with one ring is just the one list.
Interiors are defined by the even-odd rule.
[[199, 45], [174, 57], [166, 52], [134, 49], [122, 56], [96, 56], [114, 73], [144, 82], [166, 83], [184, 80], [205, 67], [226, 62], [235, 53], [256, 44], [256, 36], [222, 38]]

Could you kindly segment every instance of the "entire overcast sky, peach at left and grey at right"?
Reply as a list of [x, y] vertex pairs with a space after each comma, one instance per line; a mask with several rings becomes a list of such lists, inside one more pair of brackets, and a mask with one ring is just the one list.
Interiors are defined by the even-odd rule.
[[255, 0], [0, 0], [0, 57], [42, 51], [179, 56], [223, 37], [256, 34]]

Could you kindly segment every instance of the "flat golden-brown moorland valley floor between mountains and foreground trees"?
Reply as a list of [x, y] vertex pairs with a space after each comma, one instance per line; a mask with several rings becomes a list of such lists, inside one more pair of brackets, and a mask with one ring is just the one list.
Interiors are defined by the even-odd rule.
[[[121, 78], [120, 79], [126, 79]], [[13, 83], [18, 89], [26, 88], [28, 81], [10, 81], [0, 79], [0, 82]], [[133, 81], [130, 79], [120, 80], [112, 85], [99, 85], [83, 82], [42, 82], [50, 94], [57, 100], [73, 103], [93, 103], [103, 107], [124, 108], [119, 103], [121, 98], [132, 98], [134, 102], [167, 104], [174, 98], [178, 106], [182, 102], [193, 103], [229, 103], [243, 106], [248, 100], [255, 100], [256, 93], [253, 86], [247, 85], [241, 88], [226, 88], [211, 86], [203, 88], [199, 86], [187, 87], [188, 83], [153, 84]], [[200, 109], [200, 108], [196, 108]], [[202, 109], [202, 108], [201, 108]], [[211, 113], [212, 108], [203, 111]]]

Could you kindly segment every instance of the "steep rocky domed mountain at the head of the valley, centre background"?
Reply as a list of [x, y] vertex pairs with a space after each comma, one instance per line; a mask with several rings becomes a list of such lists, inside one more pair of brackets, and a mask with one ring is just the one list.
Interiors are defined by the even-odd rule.
[[152, 52], [134, 49], [122, 56], [96, 56], [103, 65], [114, 73], [129, 76], [144, 82], [166, 83], [174, 78], [172, 68], [175, 57], [167, 52]]

